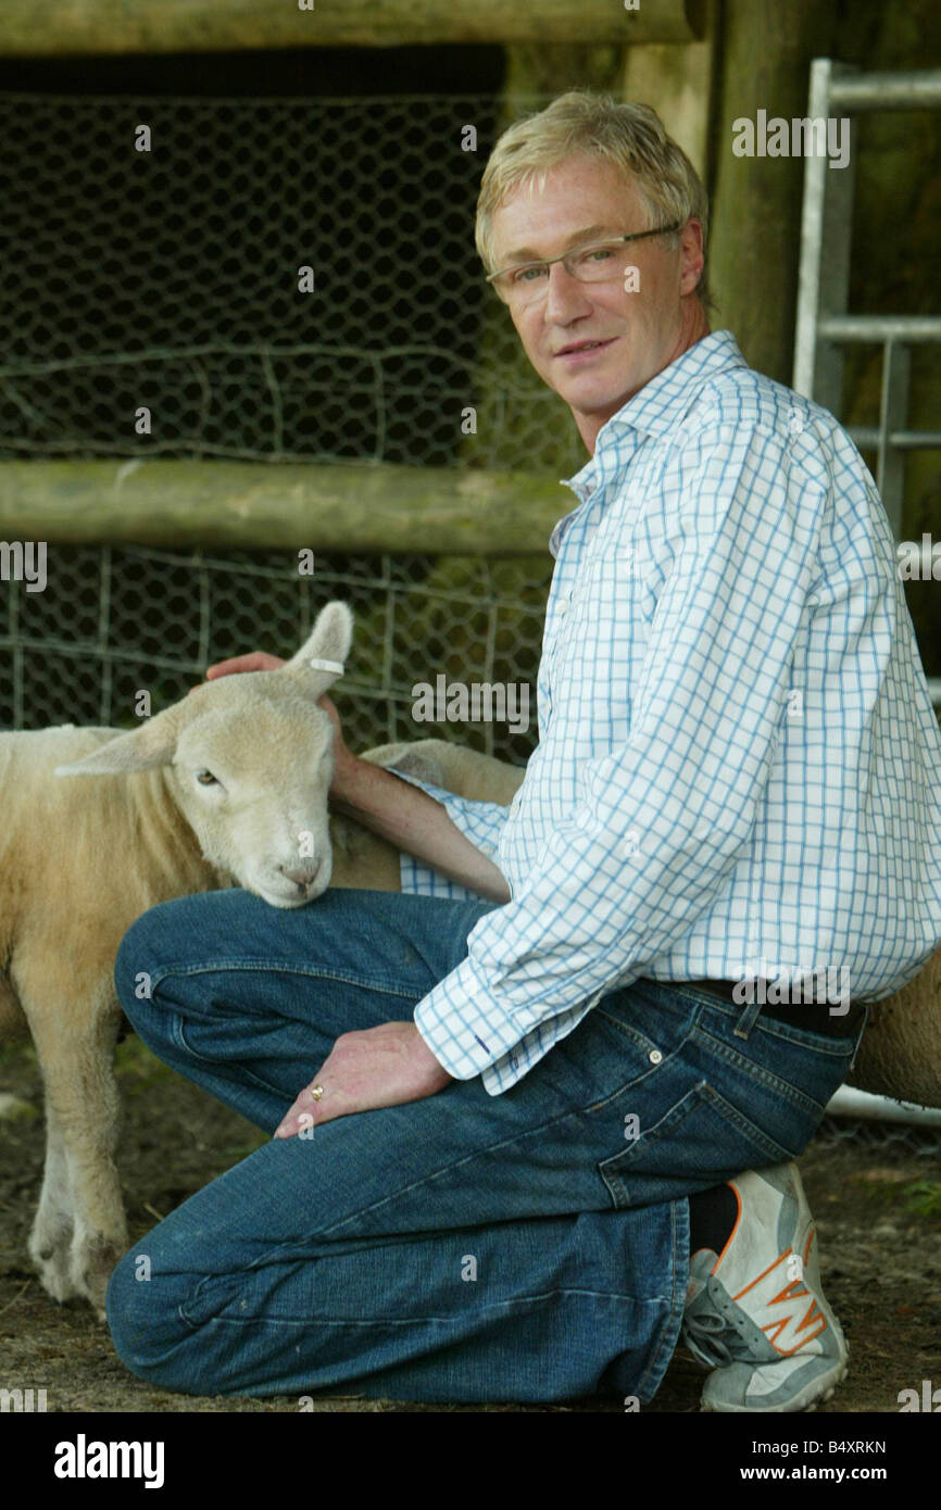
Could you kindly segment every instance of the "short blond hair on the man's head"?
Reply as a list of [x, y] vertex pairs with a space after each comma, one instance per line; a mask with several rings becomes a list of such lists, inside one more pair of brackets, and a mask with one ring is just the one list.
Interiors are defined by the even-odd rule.
[[[702, 225], [702, 251], [708, 231], [708, 199], [699, 175], [683, 148], [669, 137], [656, 110], [646, 104], [627, 104], [612, 95], [589, 89], [569, 89], [545, 110], [515, 121], [494, 146], [477, 196], [474, 239], [488, 273], [494, 263], [494, 211], [520, 184], [542, 190], [545, 175], [569, 157], [597, 157], [613, 163], [636, 187], [648, 211], [649, 225], [672, 225], [696, 219]], [[674, 233], [672, 245], [680, 243]], [[705, 263], [696, 287], [704, 308], [711, 304], [705, 284]]]

